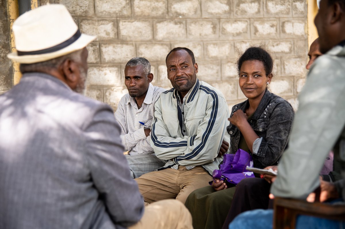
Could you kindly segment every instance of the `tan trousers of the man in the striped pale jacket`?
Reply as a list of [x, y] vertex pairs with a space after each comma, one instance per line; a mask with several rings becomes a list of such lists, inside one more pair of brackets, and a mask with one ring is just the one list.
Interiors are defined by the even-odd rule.
[[145, 202], [176, 198], [185, 203], [191, 192], [209, 185], [212, 176], [200, 165], [191, 170], [178, 166], [178, 170], [168, 168], [154, 171], [134, 180], [137, 181]]

